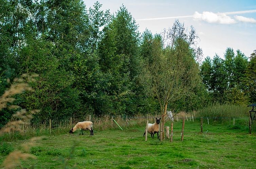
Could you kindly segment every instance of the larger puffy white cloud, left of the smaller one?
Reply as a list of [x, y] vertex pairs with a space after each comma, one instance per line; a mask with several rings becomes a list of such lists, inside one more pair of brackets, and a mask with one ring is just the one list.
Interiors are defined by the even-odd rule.
[[230, 16], [227, 16], [224, 13], [213, 13], [204, 11], [202, 14], [195, 12], [193, 15], [195, 20], [205, 21], [208, 23], [220, 23], [220, 24], [233, 24], [236, 23], [236, 20], [232, 19]]

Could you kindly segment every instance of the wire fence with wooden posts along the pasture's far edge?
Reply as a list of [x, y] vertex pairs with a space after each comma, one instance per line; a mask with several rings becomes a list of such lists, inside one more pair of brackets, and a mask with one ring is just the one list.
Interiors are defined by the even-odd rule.
[[[155, 118], [160, 117], [160, 115], [148, 116], [148, 123], [154, 123]], [[20, 132], [23, 135], [37, 136], [41, 134], [52, 134], [58, 132], [68, 132], [71, 127], [75, 126], [78, 121], [89, 120], [93, 122], [94, 130], [106, 130], [106, 129], [119, 129], [119, 127], [113, 123], [115, 120], [122, 128], [128, 129], [135, 126], [145, 126], [147, 115], [137, 115], [137, 116], [127, 116], [127, 115], [117, 115], [117, 116], [72, 116], [69, 118], [46, 118], [41, 120], [40, 123], [30, 124], [30, 125], [20, 125]], [[249, 117], [194, 117], [190, 114], [179, 114], [174, 116], [174, 126], [173, 132], [179, 133], [181, 128], [182, 119], [185, 119], [185, 123], [189, 122], [189, 130], [185, 125], [185, 133], [188, 132], [207, 132], [207, 127], [209, 125], [219, 125], [223, 124], [234, 126], [234, 129], [244, 129], [251, 133], [251, 120]], [[249, 124], [249, 125], [248, 125]], [[167, 120], [165, 126], [171, 126], [170, 119]], [[176, 130], [175, 130], [176, 129]], [[218, 130], [218, 129], [216, 129]], [[224, 132], [219, 130], [216, 132]], [[15, 132], [14, 132], [15, 133]]]

